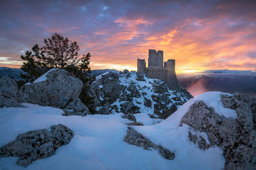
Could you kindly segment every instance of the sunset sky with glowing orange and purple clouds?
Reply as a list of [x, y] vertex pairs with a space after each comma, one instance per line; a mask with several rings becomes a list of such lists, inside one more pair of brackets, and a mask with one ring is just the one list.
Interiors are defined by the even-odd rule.
[[136, 70], [148, 49], [177, 73], [256, 69], [256, 1], [0, 1], [0, 66], [52, 33], [90, 52], [92, 69]]

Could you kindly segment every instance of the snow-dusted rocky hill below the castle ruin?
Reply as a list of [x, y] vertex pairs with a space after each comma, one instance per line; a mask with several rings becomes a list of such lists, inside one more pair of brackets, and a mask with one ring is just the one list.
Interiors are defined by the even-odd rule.
[[95, 98], [89, 108], [98, 114], [148, 113], [161, 119], [192, 98], [186, 89], [170, 90], [161, 80], [125, 70], [97, 76], [88, 96]]

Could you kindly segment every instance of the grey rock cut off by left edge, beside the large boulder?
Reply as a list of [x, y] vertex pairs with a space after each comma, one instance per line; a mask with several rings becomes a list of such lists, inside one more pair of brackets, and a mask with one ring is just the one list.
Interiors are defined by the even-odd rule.
[[0, 108], [20, 107], [17, 101], [17, 83], [12, 78], [0, 77]]

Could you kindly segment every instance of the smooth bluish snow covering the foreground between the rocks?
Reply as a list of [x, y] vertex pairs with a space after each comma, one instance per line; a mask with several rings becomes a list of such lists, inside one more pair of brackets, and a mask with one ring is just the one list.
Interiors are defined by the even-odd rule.
[[[203, 100], [225, 117], [236, 117], [223, 108], [220, 92], [207, 92], [191, 99], [163, 122], [151, 125], [145, 113], [135, 114], [145, 126], [134, 129], [150, 141], [175, 153], [174, 160], [161, 157], [156, 150], [143, 150], [124, 142], [127, 123], [122, 113], [64, 117], [62, 110], [35, 104], [28, 108], [0, 108], [0, 147], [15, 140], [18, 134], [63, 124], [75, 133], [68, 145], [61, 146], [56, 154], [36, 160], [28, 167], [17, 166], [18, 157], [0, 158], [0, 169], [223, 169], [225, 159], [218, 147], [200, 150], [189, 141], [191, 127], [179, 126], [191, 104]], [[156, 120], [157, 121], [157, 120]]]

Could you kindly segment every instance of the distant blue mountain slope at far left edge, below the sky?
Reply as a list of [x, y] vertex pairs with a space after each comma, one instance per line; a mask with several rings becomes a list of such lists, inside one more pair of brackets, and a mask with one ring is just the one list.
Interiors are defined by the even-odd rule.
[[17, 81], [22, 80], [20, 73], [24, 74], [22, 69], [10, 68], [10, 67], [0, 67], [0, 76], [11, 77]]

